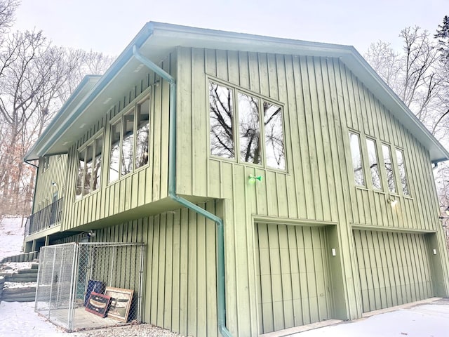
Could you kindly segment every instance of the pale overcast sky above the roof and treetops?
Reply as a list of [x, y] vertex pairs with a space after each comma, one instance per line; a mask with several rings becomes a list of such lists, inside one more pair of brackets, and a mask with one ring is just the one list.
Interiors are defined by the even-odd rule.
[[119, 55], [148, 21], [355, 46], [365, 53], [418, 25], [434, 34], [449, 0], [22, 0], [15, 29]]

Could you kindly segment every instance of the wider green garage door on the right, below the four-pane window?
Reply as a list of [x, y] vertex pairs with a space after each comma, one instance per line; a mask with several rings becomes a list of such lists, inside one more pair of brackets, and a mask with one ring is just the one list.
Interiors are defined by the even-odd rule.
[[433, 296], [424, 234], [354, 230], [363, 312]]

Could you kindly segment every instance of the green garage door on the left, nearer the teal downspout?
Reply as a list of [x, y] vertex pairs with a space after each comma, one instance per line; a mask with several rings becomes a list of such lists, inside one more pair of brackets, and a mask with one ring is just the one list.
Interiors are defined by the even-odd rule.
[[326, 230], [256, 225], [260, 333], [328, 319]]

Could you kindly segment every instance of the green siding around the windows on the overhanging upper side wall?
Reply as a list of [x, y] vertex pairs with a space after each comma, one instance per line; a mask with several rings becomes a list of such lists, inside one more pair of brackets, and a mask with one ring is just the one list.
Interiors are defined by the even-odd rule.
[[[166, 72], [175, 72], [175, 56], [161, 63]], [[173, 70], [174, 69], [174, 70]], [[156, 81], [159, 85], [153, 86]], [[151, 88], [149, 88], [151, 86]], [[150, 145], [149, 164], [129, 173], [112, 183], [109, 174], [109, 121], [117, 114], [128, 111], [136, 102], [149, 93], [150, 98]], [[149, 204], [167, 197], [168, 194], [168, 101], [169, 85], [154, 73], [149, 72], [121, 98], [116, 98], [113, 107], [105, 110], [101, 119], [92, 125], [69, 150], [67, 181], [67, 209], [63, 230], [108, 218], [124, 211], [132, 211], [138, 206]], [[78, 174], [78, 149], [96, 133], [103, 133], [102, 176], [98, 191], [75, 201], [76, 176]], [[132, 214], [130, 214], [132, 217]]]

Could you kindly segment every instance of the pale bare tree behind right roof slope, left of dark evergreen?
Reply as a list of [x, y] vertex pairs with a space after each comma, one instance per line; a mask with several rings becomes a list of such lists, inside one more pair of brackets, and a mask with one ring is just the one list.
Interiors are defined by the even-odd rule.
[[399, 37], [403, 41], [401, 52], [379, 41], [370, 45], [365, 58], [427, 128], [436, 133], [444, 112], [438, 48], [429, 32], [420, 27], [407, 27]]

